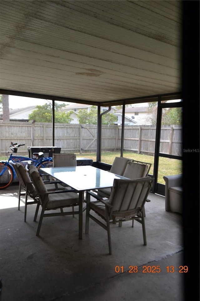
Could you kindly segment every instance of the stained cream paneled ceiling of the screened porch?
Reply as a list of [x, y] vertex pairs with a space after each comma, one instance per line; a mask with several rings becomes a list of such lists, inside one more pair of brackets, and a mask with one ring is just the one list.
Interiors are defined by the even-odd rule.
[[182, 1], [16, 0], [0, 8], [2, 94], [105, 104], [181, 91]]

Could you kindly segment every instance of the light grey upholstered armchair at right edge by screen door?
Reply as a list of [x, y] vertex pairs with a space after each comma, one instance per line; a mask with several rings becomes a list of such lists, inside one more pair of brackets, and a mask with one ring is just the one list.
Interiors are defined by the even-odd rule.
[[165, 210], [182, 213], [182, 174], [164, 176]]

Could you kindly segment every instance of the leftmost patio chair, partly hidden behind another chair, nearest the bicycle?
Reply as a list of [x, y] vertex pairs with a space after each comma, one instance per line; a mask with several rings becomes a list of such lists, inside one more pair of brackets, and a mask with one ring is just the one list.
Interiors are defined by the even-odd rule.
[[[27, 205], [37, 204], [38, 203], [38, 197], [37, 197], [37, 191], [32, 184], [32, 181], [27, 173], [27, 170], [25, 167], [20, 163], [12, 163], [13, 168], [15, 169], [15, 172], [19, 178], [19, 197], [18, 197], [18, 210], [20, 209], [20, 201], [21, 196], [25, 196], [25, 209], [24, 209], [24, 221], [26, 222], [26, 215], [27, 215]], [[37, 169], [34, 166], [35, 169]], [[62, 185], [60, 185], [59, 181], [45, 181], [44, 182], [47, 185], [47, 190], [60, 190], [64, 189]], [[22, 189], [25, 191], [22, 192]], [[33, 200], [28, 200], [28, 196], [32, 198]], [[37, 216], [34, 217], [34, 219], [37, 219]]]

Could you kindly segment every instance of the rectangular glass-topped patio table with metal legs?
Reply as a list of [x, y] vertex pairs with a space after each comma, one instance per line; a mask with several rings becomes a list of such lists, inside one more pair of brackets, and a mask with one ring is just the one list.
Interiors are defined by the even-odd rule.
[[90, 165], [74, 167], [50, 167], [41, 168], [40, 170], [67, 184], [79, 193], [79, 239], [83, 238], [84, 191], [113, 187], [114, 179], [127, 179], [119, 176], [118, 174], [113, 174], [109, 171], [98, 169]]

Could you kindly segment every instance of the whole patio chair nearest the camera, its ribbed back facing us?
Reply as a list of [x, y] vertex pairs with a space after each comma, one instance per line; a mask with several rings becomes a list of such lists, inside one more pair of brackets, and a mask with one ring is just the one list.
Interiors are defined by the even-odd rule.
[[[120, 180], [114, 179], [113, 189], [110, 198], [107, 200], [102, 199], [93, 192], [87, 192], [86, 194], [86, 227], [85, 233], [89, 232], [89, 219], [98, 223], [108, 234], [108, 248], [109, 254], [112, 254], [111, 246], [111, 234], [110, 234], [110, 222], [113, 224], [136, 220], [142, 224], [143, 229], [143, 242], [147, 245], [145, 223], [143, 216], [143, 206], [148, 197], [149, 191], [152, 187], [153, 179], [145, 177], [134, 180]], [[98, 201], [90, 201], [90, 197], [93, 196]], [[97, 219], [90, 213], [92, 210], [96, 213], [104, 222]]]

